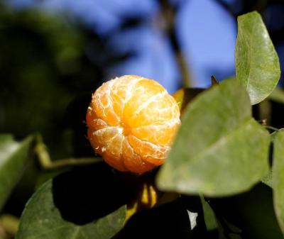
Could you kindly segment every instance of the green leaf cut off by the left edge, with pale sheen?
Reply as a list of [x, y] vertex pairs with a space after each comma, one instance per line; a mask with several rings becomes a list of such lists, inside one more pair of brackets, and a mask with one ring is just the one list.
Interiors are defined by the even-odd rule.
[[32, 141], [31, 136], [18, 143], [12, 135], [0, 135], [0, 210], [21, 179]]

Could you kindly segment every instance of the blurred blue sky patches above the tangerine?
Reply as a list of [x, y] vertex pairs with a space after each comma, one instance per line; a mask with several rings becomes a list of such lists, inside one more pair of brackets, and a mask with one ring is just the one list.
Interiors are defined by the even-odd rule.
[[[229, 0], [227, 0], [229, 1]], [[236, 22], [214, 0], [172, 0], [181, 2], [176, 30], [190, 70], [192, 87], [209, 87], [214, 74], [222, 80], [234, 75]], [[109, 69], [109, 76], [138, 74], [156, 79], [170, 93], [180, 87], [180, 74], [173, 50], [158, 19], [159, 6], [153, 0], [9, 0], [22, 9], [36, 6], [51, 13], [65, 12], [104, 37], [114, 34], [109, 47], [136, 52], [123, 64]], [[231, 4], [234, 1], [231, 0]], [[126, 16], [142, 16], [138, 28], [116, 32]]]

